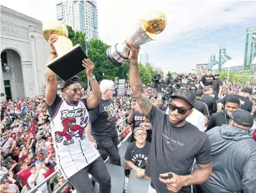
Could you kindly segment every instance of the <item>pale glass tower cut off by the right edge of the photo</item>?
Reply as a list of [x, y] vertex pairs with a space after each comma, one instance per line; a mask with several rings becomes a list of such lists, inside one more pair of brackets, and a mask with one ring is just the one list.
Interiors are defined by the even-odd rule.
[[256, 56], [256, 26], [246, 28], [244, 67], [252, 64]]

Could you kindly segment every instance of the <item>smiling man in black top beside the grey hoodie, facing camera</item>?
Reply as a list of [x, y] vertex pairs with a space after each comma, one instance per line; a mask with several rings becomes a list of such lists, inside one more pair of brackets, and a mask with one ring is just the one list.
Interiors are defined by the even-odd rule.
[[[228, 124], [230, 123], [230, 117], [232, 113], [240, 109], [240, 100], [237, 99], [235, 96], [231, 96], [227, 99], [227, 103], [225, 104], [224, 111], [217, 112], [210, 116], [210, 120], [208, 123], [208, 127], [206, 128], [206, 131], [209, 131], [211, 128], [214, 128], [215, 126], [222, 126], [222, 124]], [[206, 132], [205, 131], [205, 132]]]

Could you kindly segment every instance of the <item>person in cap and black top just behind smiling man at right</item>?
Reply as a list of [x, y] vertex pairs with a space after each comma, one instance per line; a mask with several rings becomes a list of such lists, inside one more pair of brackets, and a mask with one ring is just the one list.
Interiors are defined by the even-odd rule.
[[222, 111], [222, 107], [226, 104], [227, 99], [230, 96], [235, 96], [240, 99], [240, 108], [244, 109], [245, 111], [251, 112], [252, 111], [252, 101], [250, 101], [250, 96], [252, 95], [251, 88], [243, 88], [239, 92], [239, 94], [227, 94], [225, 97], [220, 99], [219, 103], [217, 104], [217, 111]]

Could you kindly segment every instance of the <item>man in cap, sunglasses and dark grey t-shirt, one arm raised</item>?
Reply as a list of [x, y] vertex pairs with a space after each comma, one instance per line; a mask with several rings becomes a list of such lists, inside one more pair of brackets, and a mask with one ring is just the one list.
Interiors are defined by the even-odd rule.
[[[130, 86], [136, 101], [152, 125], [153, 139], [145, 175], [151, 178], [148, 192], [191, 192], [191, 184], [202, 184], [211, 175], [212, 158], [206, 133], [185, 119], [192, 113], [195, 94], [179, 89], [171, 96], [165, 115], [143, 92], [138, 70], [139, 47], [126, 42], [130, 53]], [[199, 170], [190, 174], [194, 159]], [[167, 180], [163, 177], [172, 176]], [[162, 177], [162, 178], [161, 178]]]

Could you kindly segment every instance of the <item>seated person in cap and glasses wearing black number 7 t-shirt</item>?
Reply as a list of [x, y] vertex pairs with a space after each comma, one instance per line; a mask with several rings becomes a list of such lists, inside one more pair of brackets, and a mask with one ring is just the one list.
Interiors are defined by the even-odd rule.
[[147, 132], [142, 127], [136, 127], [133, 130], [135, 141], [129, 143], [126, 149], [126, 164], [135, 171], [135, 176], [138, 178], [148, 177], [145, 175], [145, 166], [148, 162], [150, 143], [145, 139]]

